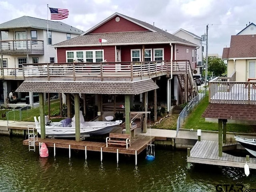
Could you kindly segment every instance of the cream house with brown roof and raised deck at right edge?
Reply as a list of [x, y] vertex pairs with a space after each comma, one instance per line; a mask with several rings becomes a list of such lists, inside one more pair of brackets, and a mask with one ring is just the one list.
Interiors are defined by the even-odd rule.
[[[249, 24], [231, 36], [230, 47], [223, 49], [227, 60], [227, 77], [216, 77], [209, 82], [209, 106], [205, 118], [217, 119], [219, 138], [226, 141], [226, 122], [255, 124], [256, 120], [256, 27]], [[222, 146], [219, 146], [219, 155]]]

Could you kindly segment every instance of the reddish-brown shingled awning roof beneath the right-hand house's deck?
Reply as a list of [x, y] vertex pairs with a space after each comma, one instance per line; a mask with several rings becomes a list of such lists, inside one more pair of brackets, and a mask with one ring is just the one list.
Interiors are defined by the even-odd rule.
[[248, 104], [209, 104], [204, 113], [205, 118], [256, 120], [256, 105]]

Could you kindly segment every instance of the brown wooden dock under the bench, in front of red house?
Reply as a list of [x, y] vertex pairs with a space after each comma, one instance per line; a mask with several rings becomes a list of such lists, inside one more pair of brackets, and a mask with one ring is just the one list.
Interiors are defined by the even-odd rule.
[[[152, 137], [152, 142], [154, 142], [155, 137]], [[44, 142], [47, 147], [55, 147], [56, 148], [66, 148], [69, 149], [76, 149], [76, 150], [86, 150], [87, 151], [101, 151], [102, 152], [109, 152], [109, 153], [116, 153], [118, 149], [119, 154], [129, 154], [129, 155], [138, 155], [144, 149], [146, 149], [147, 144], [150, 143], [150, 136], [140, 136], [137, 135], [136, 139], [131, 140], [131, 146], [126, 149], [126, 146], [117, 146], [117, 145], [109, 145], [106, 147], [106, 142], [91, 142], [91, 141], [75, 141], [75, 140], [65, 140], [65, 139], [52, 139], [46, 138], [41, 139], [38, 138], [36, 142], [36, 146], [39, 146], [39, 142]], [[28, 145], [28, 139], [23, 141], [24, 145]]]

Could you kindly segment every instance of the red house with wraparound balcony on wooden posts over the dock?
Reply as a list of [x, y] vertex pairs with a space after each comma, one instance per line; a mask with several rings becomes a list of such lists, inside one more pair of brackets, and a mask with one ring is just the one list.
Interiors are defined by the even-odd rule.
[[[84, 113], [87, 104], [95, 104], [98, 118], [102, 120], [104, 102], [112, 103], [115, 112], [116, 98], [121, 98], [126, 106], [126, 133], [130, 133], [130, 108], [134, 101], [141, 102], [147, 111], [151, 97], [156, 120], [161, 100], [171, 112], [171, 97], [176, 98], [177, 104], [188, 102], [198, 94], [192, 76], [195, 66], [191, 65], [193, 57], [195, 59], [192, 53], [198, 45], [119, 13], [54, 47], [58, 63], [24, 66], [25, 81], [17, 89], [38, 92], [42, 108], [44, 92], [64, 93], [68, 116], [71, 115], [70, 101], [74, 101], [75, 114], [79, 116], [82, 100]], [[91, 95], [95, 97], [87, 103]], [[43, 115], [41, 110], [40, 116]], [[76, 123], [76, 140], [80, 140], [79, 120]], [[145, 124], [143, 131], [146, 131]]]

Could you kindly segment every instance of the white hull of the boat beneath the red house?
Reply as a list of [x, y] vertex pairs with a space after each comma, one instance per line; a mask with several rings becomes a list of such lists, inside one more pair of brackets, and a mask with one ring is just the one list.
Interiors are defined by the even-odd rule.
[[[122, 121], [115, 122], [84, 122], [88, 126], [80, 126], [80, 136], [88, 137], [91, 135], [107, 134], [116, 126], [119, 126]], [[84, 125], [83, 124], [83, 125]], [[82, 124], [81, 124], [82, 125]], [[40, 127], [36, 128], [37, 132], [41, 134]], [[62, 127], [59, 123], [52, 123], [45, 128], [46, 136], [48, 137], [76, 137], [76, 127]]]

